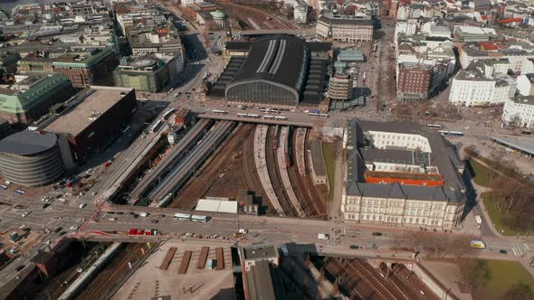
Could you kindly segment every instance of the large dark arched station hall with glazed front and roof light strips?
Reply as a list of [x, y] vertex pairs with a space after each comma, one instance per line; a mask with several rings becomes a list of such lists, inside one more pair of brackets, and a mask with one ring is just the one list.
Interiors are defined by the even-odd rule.
[[275, 108], [319, 106], [328, 60], [315, 55], [317, 47], [293, 35], [228, 42], [226, 47], [234, 55], [209, 90], [210, 99]]

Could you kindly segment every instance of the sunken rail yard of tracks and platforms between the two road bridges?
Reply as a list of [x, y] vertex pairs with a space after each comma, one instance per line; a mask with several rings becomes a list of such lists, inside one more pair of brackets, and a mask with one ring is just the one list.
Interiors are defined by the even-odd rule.
[[203, 197], [234, 201], [238, 191], [247, 190], [262, 211], [325, 218], [326, 196], [319, 194], [324, 187], [312, 183], [305, 159], [309, 132], [200, 119], [136, 183], [129, 202], [192, 210]]

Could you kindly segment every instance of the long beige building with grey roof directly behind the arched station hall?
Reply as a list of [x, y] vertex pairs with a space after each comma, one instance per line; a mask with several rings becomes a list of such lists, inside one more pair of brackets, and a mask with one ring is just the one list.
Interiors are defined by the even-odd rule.
[[342, 42], [373, 41], [374, 25], [370, 18], [324, 14], [317, 22], [317, 34]]

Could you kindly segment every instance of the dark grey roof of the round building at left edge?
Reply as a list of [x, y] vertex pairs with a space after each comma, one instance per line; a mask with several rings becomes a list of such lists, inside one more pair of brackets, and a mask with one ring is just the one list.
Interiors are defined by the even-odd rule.
[[36, 155], [56, 145], [57, 136], [23, 130], [0, 141], [0, 152], [10, 155]]

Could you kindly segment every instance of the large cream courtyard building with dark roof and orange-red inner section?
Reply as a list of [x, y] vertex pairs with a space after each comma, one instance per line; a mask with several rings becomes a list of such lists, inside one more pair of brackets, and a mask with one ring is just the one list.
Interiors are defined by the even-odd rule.
[[435, 130], [415, 123], [349, 123], [346, 221], [451, 230], [462, 217], [462, 163]]

